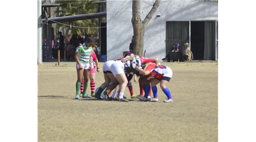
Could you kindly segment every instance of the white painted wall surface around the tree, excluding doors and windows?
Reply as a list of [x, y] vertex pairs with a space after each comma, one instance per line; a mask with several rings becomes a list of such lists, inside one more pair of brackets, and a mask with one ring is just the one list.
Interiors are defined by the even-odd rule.
[[[141, 0], [141, 19], [151, 10], [154, 0]], [[156, 17], [160, 15], [160, 17]], [[129, 50], [133, 36], [131, 0], [107, 0], [107, 60]], [[145, 28], [145, 57], [165, 56], [166, 21], [218, 20], [218, 3], [198, 0], [161, 0], [155, 15]]]

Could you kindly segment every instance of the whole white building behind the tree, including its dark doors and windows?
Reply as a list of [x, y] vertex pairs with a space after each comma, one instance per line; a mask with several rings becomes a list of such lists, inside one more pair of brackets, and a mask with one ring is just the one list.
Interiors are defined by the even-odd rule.
[[[141, 0], [144, 20], [154, 0]], [[150, 4], [149, 4], [150, 3]], [[129, 50], [133, 36], [131, 0], [107, 0], [107, 60]], [[218, 2], [161, 0], [145, 27], [145, 57], [163, 58], [174, 43], [190, 43], [194, 60], [218, 60]]]

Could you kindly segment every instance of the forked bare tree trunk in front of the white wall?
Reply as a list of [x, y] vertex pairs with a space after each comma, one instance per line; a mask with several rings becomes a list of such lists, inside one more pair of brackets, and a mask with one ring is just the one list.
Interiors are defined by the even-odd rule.
[[141, 21], [140, 14], [140, 0], [132, 0], [132, 18], [131, 23], [133, 27], [133, 43], [134, 47], [132, 50], [132, 53], [135, 55], [142, 56], [143, 55], [143, 47], [144, 47], [144, 33], [145, 33], [145, 27], [149, 23], [149, 21], [152, 19], [153, 15], [157, 11], [160, 0], [156, 0], [152, 9], [146, 16], [146, 18]]

